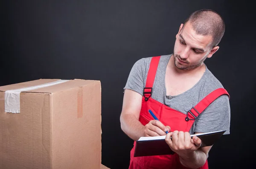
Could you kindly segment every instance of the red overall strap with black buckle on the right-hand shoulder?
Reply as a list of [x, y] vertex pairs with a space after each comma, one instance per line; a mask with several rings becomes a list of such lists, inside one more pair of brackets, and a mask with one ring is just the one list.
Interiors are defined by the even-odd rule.
[[205, 96], [204, 99], [202, 99], [195, 107], [192, 107], [192, 109], [187, 112], [187, 117], [185, 120], [195, 120], [195, 118], [198, 117], [198, 115], [200, 115], [215, 99], [224, 94], [226, 94], [230, 99], [230, 95], [224, 88], [213, 90], [211, 93], [209, 93], [209, 95]]

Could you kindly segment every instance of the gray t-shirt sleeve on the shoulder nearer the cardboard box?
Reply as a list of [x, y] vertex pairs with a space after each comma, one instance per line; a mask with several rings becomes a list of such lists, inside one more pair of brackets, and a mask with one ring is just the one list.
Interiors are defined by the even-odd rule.
[[131, 72], [128, 76], [125, 89], [133, 90], [137, 93], [140, 93], [143, 96], [143, 89], [145, 85], [145, 72], [146, 72], [146, 65], [145, 59], [142, 58], [135, 62], [133, 67], [131, 68]]

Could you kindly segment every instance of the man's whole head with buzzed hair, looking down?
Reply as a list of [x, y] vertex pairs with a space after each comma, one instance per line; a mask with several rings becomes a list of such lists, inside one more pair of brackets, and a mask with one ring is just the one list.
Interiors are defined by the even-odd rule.
[[175, 65], [181, 70], [191, 70], [202, 65], [219, 46], [224, 35], [225, 23], [215, 11], [202, 9], [192, 13], [180, 25], [176, 35]]

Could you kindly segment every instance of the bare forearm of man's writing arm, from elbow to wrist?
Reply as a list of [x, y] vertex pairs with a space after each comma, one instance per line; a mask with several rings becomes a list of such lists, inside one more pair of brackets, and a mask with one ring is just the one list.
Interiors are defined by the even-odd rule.
[[122, 114], [120, 116], [121, 129], [125, 134], [127, 134], [131, 139], [137, 141], [140, 137], [144, 135], [145, 126], [138, 121], [138, 119], [133, 114]]

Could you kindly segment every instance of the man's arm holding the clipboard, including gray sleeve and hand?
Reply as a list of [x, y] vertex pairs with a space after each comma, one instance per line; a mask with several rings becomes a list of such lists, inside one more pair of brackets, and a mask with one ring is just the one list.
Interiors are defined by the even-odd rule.
[[[226, 130], [224, 134], [229, 134], [230, 129], [230, 104], [226, 95], [220, 96], [212, 102], [198, 118], [195, 125], [195, 134], [211, 132], [212, 129]], [[172, 136], [172, 140], [170, 139]], [[208, 153], [212, 146], [201, 146], [201, 139], [194, 136], [191, 139], [189, 132], [174, 131], [166, 135], [166, 143], [180, 157], [180, 163], [189, 168], [199, 168], [203, 166], [208, 158]]]

